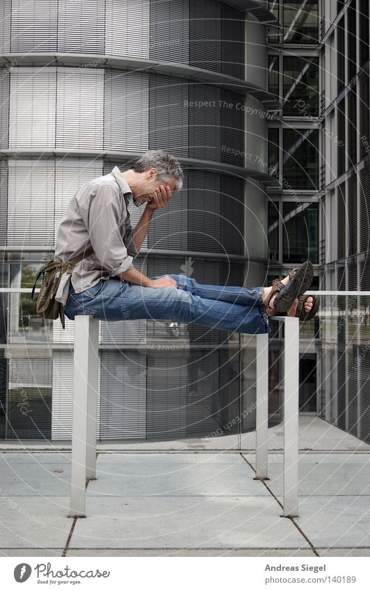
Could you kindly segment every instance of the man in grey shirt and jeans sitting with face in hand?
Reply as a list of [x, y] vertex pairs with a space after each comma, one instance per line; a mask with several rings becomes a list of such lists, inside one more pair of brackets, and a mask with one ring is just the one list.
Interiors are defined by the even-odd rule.
[[[58, 287], [56, 300], [65, 306], [70, 320], [79, 314], [111, 321], [152, 318], [258, 334], [271, 330], [268, 315], [278, 309], [294, 315], [295, 299], [303, 293], [303, 285], [309, 285], [307, 269], [299, 269], [295, 278], [287, 276], [280, 287], [248, 290], [200, 285], [184, 275], [147, 277], [134, 267], [154, 212], [168, 204], [172, 191], [182, 188], [182, 178], [174, 156], [165, 150], [148, 150], [129, 170], [122, 173], [115, 166], [111, 173], [78, 189], [61, 221], [55, 256], [66, 262], [90, 246], [94, 253], [66, 271]], [[136, 206], [145, 205], [134, 229], [130, 199]], [[267, 301], [270, 305], [265, 307]], [[306, 313], [311, 307], [306, 301]]]

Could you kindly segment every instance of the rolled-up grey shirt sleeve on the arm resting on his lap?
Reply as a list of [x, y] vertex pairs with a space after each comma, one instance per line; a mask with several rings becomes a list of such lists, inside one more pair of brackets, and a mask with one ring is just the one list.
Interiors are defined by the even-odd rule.
[[[112, 277], [134, 267], [134, 257], [128, 252], [120, 231], [127, 217], [120, 192], [110, 184], [98, 184], [90, 187], [88, 196], [85, 195], [78, 203], [91, 246], [102, 267]], [[131, 235], [129, 251], [134, 253], [136, 248], [132, 248], [132, 242], [134, 238]]]

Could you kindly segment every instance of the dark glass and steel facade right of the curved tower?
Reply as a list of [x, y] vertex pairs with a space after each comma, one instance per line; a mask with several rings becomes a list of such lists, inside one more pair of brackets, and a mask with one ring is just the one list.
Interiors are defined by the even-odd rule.
[[[267, 131], [271, 173], [282, 183], [269, 192], [270, 269], [309, 258], [314, 289], [369, 291], [369, 2], [272, 1], [269, 8], [282, 24], [280, 39], [268, 42], [268, 90], [282, 102]], [[364, 441], [369, 302], [323, 297], [325, 313], [312, 322], [305, 352], [300, 331], [301, 410]]]

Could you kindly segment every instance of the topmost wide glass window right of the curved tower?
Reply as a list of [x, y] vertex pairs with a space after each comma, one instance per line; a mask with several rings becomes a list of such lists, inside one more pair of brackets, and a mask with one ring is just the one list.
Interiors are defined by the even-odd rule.
[[284, 43], [317, 43], [319, 26], [317, 0], [283, 0]]

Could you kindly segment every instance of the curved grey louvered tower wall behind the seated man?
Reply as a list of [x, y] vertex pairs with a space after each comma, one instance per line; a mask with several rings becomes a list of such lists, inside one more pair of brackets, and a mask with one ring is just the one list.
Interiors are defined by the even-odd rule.
[[[244, 80], [244, 17], [216, 0], [1, 3], [3, 53], [15, 57], [0, 76], [3, 281], [9, 274], [10, 285], [21, 285], [42, 253], [50, 256], [82, 183], [113, 166], [123, 171], [132, 155], [165, 148], [184, 159], [184, 187], [155, 216], [136, 266], [149, 276], [182, 273], [200, 283], [243, 285], [245, 95], [218, 74]], [[38, 67], [36, 55], [34, 65], [22, 65], [23, 55], [48, 52], [48, 65]], [[60, 63], [63, 54], [77, 62], [81, 56], [81, 63]], [[104, 56], [121, 57], [131, 71], [108, 68]], [[132, 71], [135, 59], [146, 59], [148, 68]], [[150, 71], [156, 62], [167, 63], [166, 73]], [[207, 75], [181, 78], [184, 65]], [[234, 175], [230, 165], [240, 167]], [[133, 226], [142, 211], [131, 207]], [[10, 341], [20, 342], [29, 322], [30, 342], [45, 347], [48, 358], [52, 351], [53, 420], [45, 420], [52, 439], [68, 439], [72, 386], [65, 375], [73, 370], [74, 323], [65, 331], [52, 323], [50, 349], [45, 327], [18, 313], [19, 301], [10, 302]], [[100, 342], [101, 439], [206, 435], [239, 413], [235, 336], [143, 320], [101, 322]], [[239, 429], [237, 420], [232, 425], [228, 434]]]

